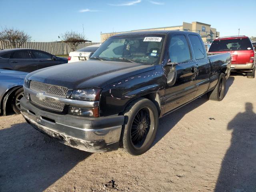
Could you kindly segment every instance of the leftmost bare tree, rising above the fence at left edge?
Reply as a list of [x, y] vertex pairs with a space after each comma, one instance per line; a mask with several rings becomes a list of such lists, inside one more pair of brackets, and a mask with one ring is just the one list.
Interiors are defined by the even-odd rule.
[[0, 31], [0, 41], [9, 42], [6, 48], [19, 48], [25, 42], [31, 40], [31, 36], [22, 30], [14, 28], [2, 28]]

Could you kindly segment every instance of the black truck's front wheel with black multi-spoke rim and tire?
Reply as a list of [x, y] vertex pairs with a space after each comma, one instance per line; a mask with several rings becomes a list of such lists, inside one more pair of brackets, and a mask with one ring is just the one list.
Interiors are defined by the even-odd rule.
[[155, 104], [140, 98], [132, 101], [124, 112], [122, 142], [124, 150], [141, 155], [152, 145], [158, 128], [158, 110]]

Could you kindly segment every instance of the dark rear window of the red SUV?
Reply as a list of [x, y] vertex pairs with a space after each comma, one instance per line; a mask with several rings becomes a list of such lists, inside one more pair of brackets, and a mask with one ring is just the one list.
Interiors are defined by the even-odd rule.
[[248, 38], [214, 40], [209, 52], [240, 50], [252, 50], [252, 44]]

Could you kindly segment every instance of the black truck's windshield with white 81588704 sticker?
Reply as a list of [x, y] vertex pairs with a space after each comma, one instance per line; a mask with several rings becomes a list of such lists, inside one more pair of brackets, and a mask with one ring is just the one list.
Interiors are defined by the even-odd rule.
[[110, 37], [90, 59], [159, 64], [164, 37], [163, 34]]

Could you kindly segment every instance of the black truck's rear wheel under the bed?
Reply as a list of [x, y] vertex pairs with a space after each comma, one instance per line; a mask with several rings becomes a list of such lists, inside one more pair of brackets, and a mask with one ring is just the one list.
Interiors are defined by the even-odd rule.
[[221, 101], [225, 96], [225, 91], [226, 76], [225, 74], [221, 73], [216, 87], [211, 92], [208, 92], [207, 95], [210, 100]]

